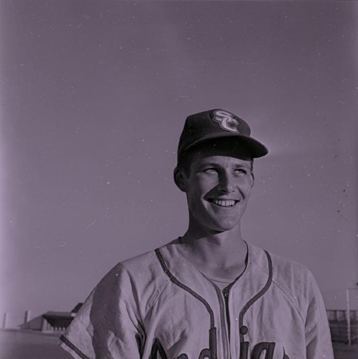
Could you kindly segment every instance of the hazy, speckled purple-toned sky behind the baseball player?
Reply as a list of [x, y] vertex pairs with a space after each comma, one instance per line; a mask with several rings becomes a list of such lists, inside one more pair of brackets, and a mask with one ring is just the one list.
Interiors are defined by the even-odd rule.
[[117, 262], [183, 235], [177, 142], [210, 108], [269, 148], [243, 238], [307, 265], [327, 308], [345, 308], [358, 288], [358, 3], [0, 6], [0, 316], [71, 310]]

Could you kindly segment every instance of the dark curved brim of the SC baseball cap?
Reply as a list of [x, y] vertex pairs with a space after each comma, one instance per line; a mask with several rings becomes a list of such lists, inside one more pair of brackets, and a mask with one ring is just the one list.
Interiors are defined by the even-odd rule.
[[262, 157], [262, 156], [266, 155], [267, 153], [269, 153], [269, 150], [267, 149], [266, 146], [264, 146], [259, 141], [253, 139], [252, 137], [244, 136], [243, 134], [237, 134], [237, 133], [218, 132], [218, 133], [206, 134], [205, 136], [200, 137], [198, 140], [192, 142], [189, 146], [185, 147], [182, 150], [181, 156], [188, 149], [192, 148], [193, 146], [195, 146], [199, 143], [206, 142], [206, 141], [213, 140], [213, 139], [219, 139], [219, 138], [236, 138], [238, 141], [242, 142], [242, 144], [248, 150], [248, 152], [250, 153], [252, 158], [259, 158], [259, 157]]

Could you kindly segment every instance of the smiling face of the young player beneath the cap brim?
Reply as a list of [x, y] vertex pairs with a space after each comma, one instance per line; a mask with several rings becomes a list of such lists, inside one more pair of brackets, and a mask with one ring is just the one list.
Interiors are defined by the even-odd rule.
[[239, 226], [254, 183], [247, 155], [227, 146], [205, 146], [190, 156], [187, 171], [176, 169], [175, 178], [187, 195], [189, 223], [205, 232]]

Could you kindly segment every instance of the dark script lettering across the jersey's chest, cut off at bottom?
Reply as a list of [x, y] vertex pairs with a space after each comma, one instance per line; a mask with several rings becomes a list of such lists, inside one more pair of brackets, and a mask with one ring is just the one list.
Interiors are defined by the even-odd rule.
[[[240, 356], [239, 359], [273, 359], [276, 343], [260, 342], [257, 343], [251, 355], [249, 356], [249, 342], [240, 343]], [[213, 348], [215, 346], [215, 348]], [[158, 357], [159, 354], [159, 357]], [[264, 354], [264, 356], [262, 356]], [[169, 359], [161, 342], [155, 338], [149, 359]], [[173, 358], [175, 359], [175, 358]], [[189, 359], [188, 354], [180, 354], [176, 359]], [[193, 359], [193, 358], [192, 358]], [[209, 343], [209, 348], [200, 351], [198, 359], [216, 359], [216, 343]], [[282, 359], [289, 359], [288, 355], [283, 350]]]

